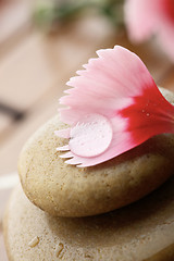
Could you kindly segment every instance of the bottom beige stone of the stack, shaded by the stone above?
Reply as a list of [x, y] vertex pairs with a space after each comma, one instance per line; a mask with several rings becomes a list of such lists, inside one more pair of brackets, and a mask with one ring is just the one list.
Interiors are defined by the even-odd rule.
[[[10, 261], [173, 261], [174, 177], [146, 198], [107, 214], [53, 217], [21, 187], [4, 217]], [[29, 243], [39, 238], [35, 247]]]

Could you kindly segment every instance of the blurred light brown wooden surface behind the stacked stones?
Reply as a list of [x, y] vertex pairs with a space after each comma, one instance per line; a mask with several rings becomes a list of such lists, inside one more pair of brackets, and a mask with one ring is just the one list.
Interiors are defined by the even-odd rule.
[[[4, 1], [8, 2], [8, 1]], [[32, 1], [30, 1], [32, 2]], [[122, 45], [146, 63], [156, 83], [174, 90], [174, 66], [154, 42], [133, 46], [101, 17], [85, 16], [57, 34], [46, 35], [30, 23], [25, 0], [0, 4], [0, 177], [15, 172], [25, 140], [57, 113], [65, 83], [95, 51]], [[0, 191], [0, 211], [11, 189]], [[0, 220], [0, 260], [7, 261]]]

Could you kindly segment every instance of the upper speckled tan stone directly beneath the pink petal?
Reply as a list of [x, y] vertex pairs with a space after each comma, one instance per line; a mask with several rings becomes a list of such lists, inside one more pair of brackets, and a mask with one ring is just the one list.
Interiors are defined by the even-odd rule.
[[[174, 101], [174, 95], [164, 91]], [[18, 173], [26, 196], [57, 216], [104, 213], [138, 200], [174, 173], [174, 135], [156, 136], [102, 164], [79, 169], [60, 159], [57, 147], [65, 139], [59, 116], [50, 120], [24, 146]]]

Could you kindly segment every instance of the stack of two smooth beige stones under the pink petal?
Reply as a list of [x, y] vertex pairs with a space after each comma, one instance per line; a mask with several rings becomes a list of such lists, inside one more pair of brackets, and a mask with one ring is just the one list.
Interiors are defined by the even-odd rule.
[[9, 260], [174, 260], [174, 135], [80, 169], [55, 150], [66, 142], [54, 135], [63, 127], [55, 116], [23, 148], [23, 189], [13, 191], [4, 217]]

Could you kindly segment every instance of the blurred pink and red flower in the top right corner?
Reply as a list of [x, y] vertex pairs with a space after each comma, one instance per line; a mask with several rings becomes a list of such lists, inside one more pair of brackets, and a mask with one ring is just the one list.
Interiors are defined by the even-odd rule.
[[174, 61], [174, 0], [126, 0], [124, 11], [130, 39], [140, 42], [156, 34]]

